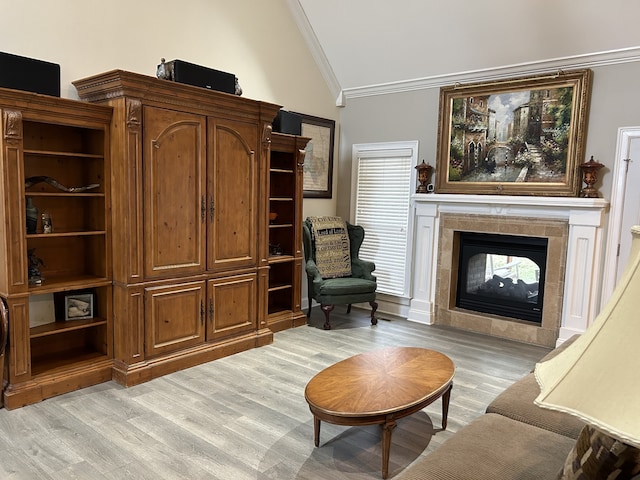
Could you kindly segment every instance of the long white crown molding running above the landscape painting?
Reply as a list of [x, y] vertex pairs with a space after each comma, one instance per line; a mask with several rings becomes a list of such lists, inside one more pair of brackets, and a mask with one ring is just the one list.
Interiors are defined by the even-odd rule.
[[554, 58], [537, 62], [518, 63], [496, 68], [470, 70], [467, 72], [435, 75], [432, 77], [381, 83], [342, 90], [343, 106], [350, 98], [372, 97], [393, 93], [410, 92], [454, 85], [456, 83], [475, 83], [502, 80], [518, 75], [537, 75], [553, 73], [557, 70], [574, 68], [593, 68], [640, 61], [640, 46], [588, 53], [570, 57]]

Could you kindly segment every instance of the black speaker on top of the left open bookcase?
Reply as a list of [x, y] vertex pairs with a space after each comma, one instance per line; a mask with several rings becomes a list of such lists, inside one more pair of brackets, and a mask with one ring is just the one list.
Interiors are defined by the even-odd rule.
[[60, 96], [60, 65], [0, 52], [0, 87]]

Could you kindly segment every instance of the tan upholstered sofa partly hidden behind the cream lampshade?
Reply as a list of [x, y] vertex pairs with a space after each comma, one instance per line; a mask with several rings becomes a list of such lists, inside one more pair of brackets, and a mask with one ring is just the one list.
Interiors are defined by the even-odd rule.
[[[557, 355], [577, 336], [552, 350]], [[455, 390], [454, 390], [455, 391]], [[579, 419], [536, 406], [533, 373], [502, 392], [486, 413], [442, 446], [421, 456], [395, 478], [401, 480], [555, 479], [584, 426]]]

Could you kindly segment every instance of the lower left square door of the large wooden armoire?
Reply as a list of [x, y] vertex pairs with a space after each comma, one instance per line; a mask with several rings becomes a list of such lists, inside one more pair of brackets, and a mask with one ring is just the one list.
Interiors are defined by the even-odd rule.
[[204, 294], [204, 282], [146, 289], [147, 356], [202, 343]]

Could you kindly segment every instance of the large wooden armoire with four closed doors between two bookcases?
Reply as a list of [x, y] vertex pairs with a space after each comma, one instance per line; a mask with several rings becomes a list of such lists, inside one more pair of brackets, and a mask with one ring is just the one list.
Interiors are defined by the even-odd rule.
[[279, 107], [115, 70], [114, 379], [134, 385], [269, 343], [268, 159]]

